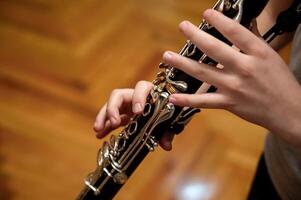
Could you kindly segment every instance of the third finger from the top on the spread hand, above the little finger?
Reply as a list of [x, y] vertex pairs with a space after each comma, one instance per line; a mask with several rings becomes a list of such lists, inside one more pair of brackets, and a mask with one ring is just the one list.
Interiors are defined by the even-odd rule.
[[207, 82], [216, 87], [223, 87], [227, 83], [226, 74], [212, 66], [198, 63], [192, 59], [186, 58], [173, 52], [165, 52], [163, 60], [192, 77]]

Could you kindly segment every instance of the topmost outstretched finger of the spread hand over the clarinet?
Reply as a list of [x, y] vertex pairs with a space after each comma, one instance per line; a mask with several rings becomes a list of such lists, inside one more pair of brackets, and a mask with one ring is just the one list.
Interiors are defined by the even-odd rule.
[[204, 19], [244, 53], [257, 55], [258, 50], [265, 47], [251, 31], [220, 12], [208, 9], [204, 12]]

